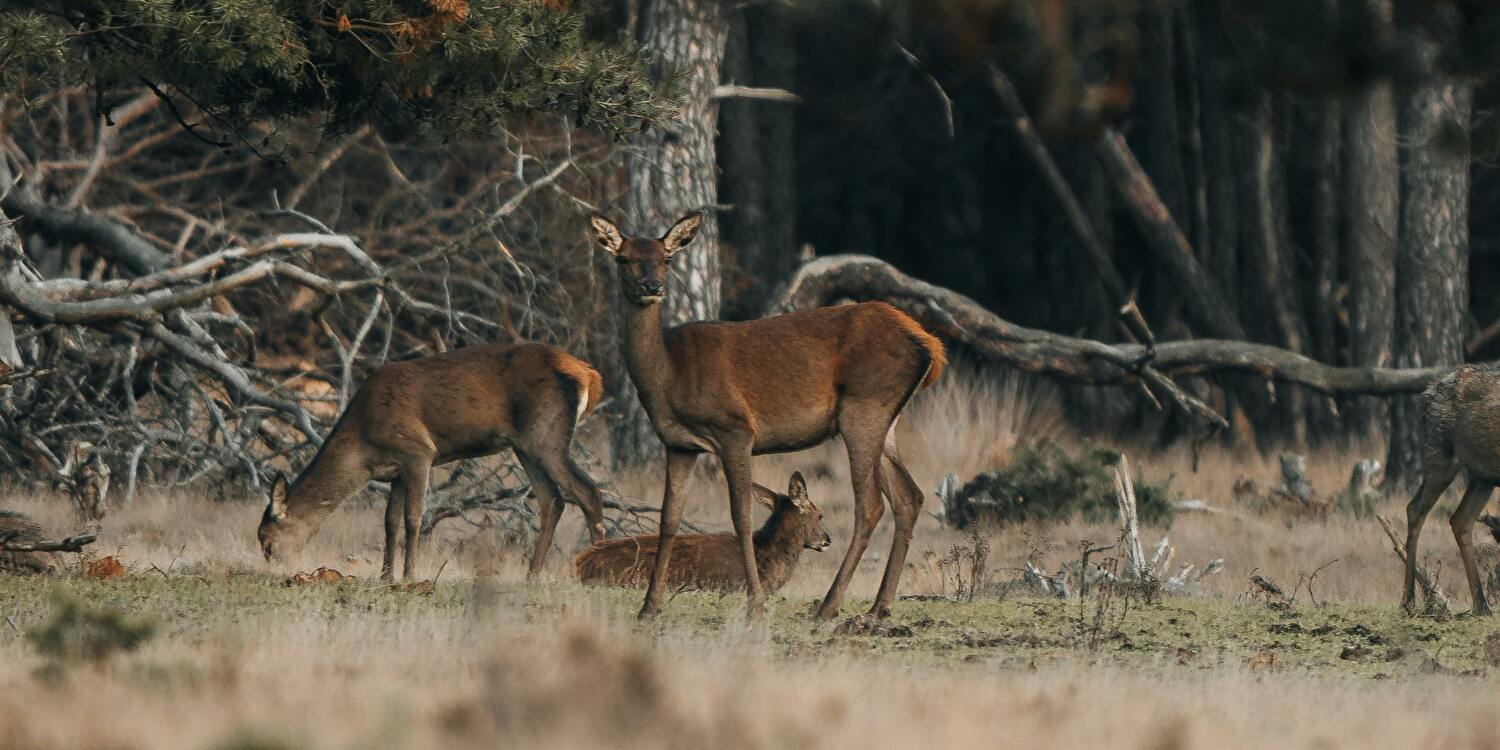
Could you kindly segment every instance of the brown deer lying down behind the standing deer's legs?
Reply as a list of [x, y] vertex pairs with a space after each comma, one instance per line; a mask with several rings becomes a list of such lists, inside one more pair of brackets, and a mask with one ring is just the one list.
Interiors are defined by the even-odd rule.
[[[771, 508], [771, 518], [754, 532], [756, 572], [760, 588], [776, 594], [792, 578], [802, 549], [824, 550], [832, 540], [824, 531], [824, 512], [807, 498], [802, 472], [794, 472], [786, 495], [754, 484], [754, 500]], [[606, 538], [573, 560], [584, 584], [644, 586], [656, 568], [656, 534]], [[668, 572], [669, 588], [744, 591], [746, 570], [740, 540], [732, 532], [686, 534], [674, 544], [676, 564]]]

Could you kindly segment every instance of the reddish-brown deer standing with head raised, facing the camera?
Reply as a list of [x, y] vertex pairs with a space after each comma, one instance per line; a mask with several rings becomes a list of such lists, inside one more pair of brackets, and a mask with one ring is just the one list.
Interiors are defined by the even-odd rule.
[[651, 426], [666, 446], [660, 554], [640, 616], [662, 608], [672, 540], [682, 518], [681, 486], [700, 453], [718, 456], [748, 580], [747, 612], [758, 616], [765, 591], [754, 567], [750, 456], [789, 453], [843, 435], [854, 484], [854, 537], [819, 609], [838, 614], [870, 534], [880, 520], [880, 495], [891, 504], [896, 534], [885, 578], [870, 612], [890, 614], [906, 562], [922, 494], [896, 454], [896, 418], [916, 390], [946, 364], [942, 342], [885, 303], [844, 304], [746, 322], [692, 322], [664, 330], [663, 282], [672, 256], [702, 225], [702, 213], [680, 219], [662, 238], [627, 238], [614, 222], [590, 216], [594, 242], [620, 268], [626, 298], [621, 327], [626, 369]]

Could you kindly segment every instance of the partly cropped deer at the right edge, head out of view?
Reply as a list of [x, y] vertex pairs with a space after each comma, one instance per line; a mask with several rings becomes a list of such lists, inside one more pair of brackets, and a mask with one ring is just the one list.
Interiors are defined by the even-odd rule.
[[1407, 504], [1406, 585], [1401, 606], [1416, 604], [1418, 538], [1422, 522], [1460, 471], [1468, 478], [1464, 500], [1449, 519], [1464, 561], [1476, 615], [1490, 614], [1474, 562], [1474, 519], [1500, 484], [1500, 364], [1464, 364], [1422, 392], [1422, 486]]

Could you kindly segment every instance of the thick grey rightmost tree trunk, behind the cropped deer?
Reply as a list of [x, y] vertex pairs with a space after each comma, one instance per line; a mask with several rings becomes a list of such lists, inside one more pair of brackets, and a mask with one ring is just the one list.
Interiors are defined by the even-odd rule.
[[[1468, 316], [1468, 122], [1473, 88], [1436, 81], [1401, 112], [1401, 230], [1395, 366], [1458, 364]], [[1410, 486], [1422, 470], [1414, 398], [1390, 400], [1386, 480]]]

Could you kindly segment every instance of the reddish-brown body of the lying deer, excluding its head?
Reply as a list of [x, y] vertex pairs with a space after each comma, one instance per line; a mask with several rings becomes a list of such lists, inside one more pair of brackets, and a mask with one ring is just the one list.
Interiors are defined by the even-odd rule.
[[[594, 585], [645, 588], [656, 567], [658, 543], [657, 536], [600, 542], [574, 558], [578, 579]], [[756, 544], [756, 568], [766, 594], [786, 585], [800, 554], [801, 546], [794, 546], [790, 560], [771, 560]], [[678, 536], [672, 543], [672, 566], [668, 568], [666, 584], [670, 590], [742, 592], [746, 572], [740, 561], [740, 540], [732, 532]]]

